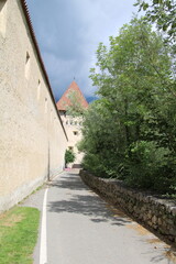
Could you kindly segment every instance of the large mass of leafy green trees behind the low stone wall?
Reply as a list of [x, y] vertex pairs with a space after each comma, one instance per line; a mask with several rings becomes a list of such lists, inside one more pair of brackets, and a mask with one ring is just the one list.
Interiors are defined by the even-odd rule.
[[85, 114], [84, 166], [100, 177], [174, 191], [176, 87], [169, 47], [144, 19], [133, 19], [90, 70], [99, 100]]

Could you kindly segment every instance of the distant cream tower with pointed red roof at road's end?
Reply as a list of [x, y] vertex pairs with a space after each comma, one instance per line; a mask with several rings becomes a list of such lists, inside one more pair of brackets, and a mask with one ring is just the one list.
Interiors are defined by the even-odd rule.
[[79, 167], [82, 161], [84, 154], [77, 148], [77, 143], [81, 140], [81, 128], [82, 128], [82, 117], [73, 117], [68, 113], [68, 109], [73, 103], [79, 105], [78, 107], [82, 109], [88, 108], [88, 102], [86, 101], [81, 90], [74, 80], [68, 89], [64, 92], [62, 98], [56, 103], [59, 114], [63, 120], [64, 128], [68, 135], [67, 148], [73, 150], [76, 154], [76, 161], [70, 164], [73, 167]]

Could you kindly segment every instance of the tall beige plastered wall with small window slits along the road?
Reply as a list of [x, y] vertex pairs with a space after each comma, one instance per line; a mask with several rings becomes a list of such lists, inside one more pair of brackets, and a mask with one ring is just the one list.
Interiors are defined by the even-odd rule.
[[0, 211], [63, 170], [66, 145], [21, 2], [0, 1]]

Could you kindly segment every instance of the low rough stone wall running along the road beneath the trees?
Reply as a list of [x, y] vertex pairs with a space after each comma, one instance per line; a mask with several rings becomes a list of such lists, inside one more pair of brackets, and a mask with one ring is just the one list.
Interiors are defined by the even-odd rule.
[[85, 170], [80, 170], [80, 177], [113, 205], [176, 242], [176, 202], [128, 188], [120, 180], [95, 177]]

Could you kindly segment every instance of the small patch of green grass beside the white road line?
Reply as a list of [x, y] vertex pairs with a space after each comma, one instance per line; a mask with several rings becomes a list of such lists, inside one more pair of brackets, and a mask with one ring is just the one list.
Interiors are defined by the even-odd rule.
[[40, 211], [15, 207], [0, 216], [0, 264], [32, 264]]

